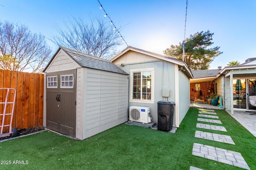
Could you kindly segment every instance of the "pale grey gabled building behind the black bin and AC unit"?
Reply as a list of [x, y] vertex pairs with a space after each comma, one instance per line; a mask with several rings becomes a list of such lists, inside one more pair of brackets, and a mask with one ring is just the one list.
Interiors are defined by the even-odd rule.
[[129, 107], [150, 107], [157, 122], [158, 101], [175, 102], [173, 125], [179, 127], [190, 107], [189, 79], [193, 75], [186, 62], [131, 46], [110, 61], [130, 72]]

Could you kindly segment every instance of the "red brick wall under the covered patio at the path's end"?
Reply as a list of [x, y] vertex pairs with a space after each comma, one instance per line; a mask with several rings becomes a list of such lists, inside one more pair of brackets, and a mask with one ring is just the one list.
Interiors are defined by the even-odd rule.
[[[200, 96], [200, 92], [196, 91], [196, 83], [190, 83], [190, 100], [195, 100], [195, 98], [201, 98], [203, 100], [206, 100], [208, 97], [210, 97], [211, 93], [214, 92], [214, 85], [212, 84], [213, 82], [200, 82], [200, 90], [202, 91], [203, 96]], [[210, 93], [208, 90], [211, 89]]]

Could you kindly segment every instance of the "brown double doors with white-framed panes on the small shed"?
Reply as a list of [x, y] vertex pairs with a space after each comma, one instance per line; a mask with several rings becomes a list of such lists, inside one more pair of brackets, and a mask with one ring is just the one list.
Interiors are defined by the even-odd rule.
[[46, 127], [76, 137], [76, 69], [46, 73]]

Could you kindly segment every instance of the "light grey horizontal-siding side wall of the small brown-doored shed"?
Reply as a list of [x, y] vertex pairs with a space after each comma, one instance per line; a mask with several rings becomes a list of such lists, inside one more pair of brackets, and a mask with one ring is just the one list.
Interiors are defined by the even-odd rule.
[[[82, 68], [77, 93], [77, 130], [86, 139], [127, 121], [127, 75]], [[83, 114], [84, 113], [84, 114]], [[82, 138], [81, 138], [82, 136]]]

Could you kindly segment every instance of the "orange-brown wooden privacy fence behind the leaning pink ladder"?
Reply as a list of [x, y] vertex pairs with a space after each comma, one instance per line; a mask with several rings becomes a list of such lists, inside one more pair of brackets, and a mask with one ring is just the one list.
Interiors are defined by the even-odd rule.
[[[12, 127], [17, 129], [43, 125], [44, 74], [0, 70], [0, 88], [15, 88], [17, 91], [14, 104]], [[5, 102], [6, 92], [0, 90], [0, 102]], [[14, 91], [9, 94], [8, 102], [14, 100]], [[6, 113], [11, 113], [12, 104], [7, 104]], [[0, 113], [4, 104], [0, 104]], [[2, 125], [0, 116], [0, 125]], [[6, 116], [4, 125], [10, 124], [11, 116]], [[4, 127], [3, 133], [9, 127]]]

